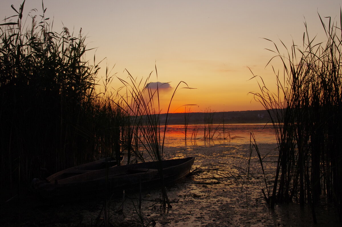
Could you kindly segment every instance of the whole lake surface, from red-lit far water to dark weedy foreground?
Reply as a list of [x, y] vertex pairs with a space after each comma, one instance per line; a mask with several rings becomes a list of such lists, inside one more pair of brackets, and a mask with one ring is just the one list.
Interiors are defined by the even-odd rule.
[[[170, 125], [166, 133], [163, 157], [172, 159], [193, 156], [196, 159], [192, 170], [200, 169], [201, 166], [207, 166], [210, 170], [210, 164], [220, 164], [219, 169], [214, 166], [212, 171], [167, 186], [172, 209], [160, 208], [159, 187], [143, 188], [141, 194], [126, 191], [123, 193], [125, 196], [114, 196], [108, 209], [109, 222], [119, 226], [142, 226], [142, 223], [149, 226], [149, 223], [154, 223], [156, 227], [341, 226], [333, 208], [325, 203], [317, 207], [318, 224], [313, 223], [311, 208], [308, 205], [301, 209], [298, 203], [277, 204], [274, 210], [268, 209], [261, 189], [267, 192], [267, 184], [268, 189], [272, 190], [278, 160], [278, 150], [275, 149], [277, 144], [271, 125], [214, 125], [213, 129], [214, 139], [204, 140], [204, 125], [189, 125], [185, 145], [184, 126]], [[194, 132], [197, 133], [196, 136]], [[254, 133], [261, 156], [264, 157], [263, 170], [256, 152], [250, 153], [251, 132]], [[247, 176], [248, 165], [250, 168]], [[141, 210], [138, 215], [137, 204], [140, 196]], [[38, 203], [39, 210], [37, 200], [25, 202], [25, 206], [15, 204], [11, 212], [5, 213], [4, 217], [10, 217], [13, 223], [18, 223], [17, 217], [20, 217], [20, 213], [26, 214], [27, 220], [34, 218], [37, 220], [35, 223], [49, 226], [90, 226], [90, 223], [97, 223], [99, 218], [100, 223], [104, 220], [103, 201], [92, 197], [73, 203], [51, 204], [50, 201], [41, 201], [46, 205]], [[8, 204], [10, 203], [6, 205]], [[32, 208], [28, 209], [26, 206]], [[41, 208], [44, 213], [40, 212]], [[122, 209], [121, 212], [117, 212], [119, 208]], [[47, 216], [52, 217], [48, 222]], [[23, 220], [25, 219], [19, 222], [28, 222]]]

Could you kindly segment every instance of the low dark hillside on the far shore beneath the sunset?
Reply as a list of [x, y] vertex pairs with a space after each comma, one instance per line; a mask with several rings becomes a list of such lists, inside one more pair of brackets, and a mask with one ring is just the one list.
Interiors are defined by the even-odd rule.
[[[229, 124], [229, 123], [267, 123], [270, 121], [266, 110], [247, 110], [247, 111], [229, 111], [229, 112], [214, 112], [190, 113], [189, 124], [203, 124], [205, 116], [212, 114], [213, 123]], [[166, 114], [162, 114], [162, 122], [165, 121]], [[170, 124], [184, 124], [184, 113], [169, 113]], [[224, 121], [223, 121], [224, 120]]]

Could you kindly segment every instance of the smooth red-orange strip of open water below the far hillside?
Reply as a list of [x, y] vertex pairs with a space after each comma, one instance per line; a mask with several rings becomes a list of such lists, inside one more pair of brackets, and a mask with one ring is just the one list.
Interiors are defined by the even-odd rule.
[[[276, 137], [272, 124], [213, 124], [211, 126], [212, 140], [204, 140], [204, 135], [208, 135], [208, 125], [203, 124], [188, 125], [186, 133], [187, 145], [207, 145], [218, 143], [249, 144], [250, 134], [254, 133], [257, 143], [276, 143]], [[184, 125], [169, 125], [165, 137], [167, 146], [185, 145]]]

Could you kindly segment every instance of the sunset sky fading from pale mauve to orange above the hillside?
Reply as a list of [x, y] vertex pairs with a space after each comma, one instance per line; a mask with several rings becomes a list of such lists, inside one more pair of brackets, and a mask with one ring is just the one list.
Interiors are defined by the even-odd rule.
[[[0, 15], [12, 16], [23, 0], [2, 0]], [[249, 92], [258, 91], [252, 73], [260, 75], [266, 85], [274, 86], [271, 66], [275, 55], [265, 50], [274, 45], [265, 39], [280, 41], [290, 48], [292, 39], [301, 45], [304, 21], [309, 35], [317, 43], [326, 40], [318, 13], [339, 21], [339, 0], [259, 0], [259, 1], [151, 1], [151, 0], [46, 0], [45, 17], [54, 18], [53, 30], [64, 26], [78, 34], [82, 27], [88, 48], [97, 48], [96, 61], [106, 57], [102, 68], [115, 67], [112, 74], [126, 79], [127, 69], [134, 77], [150, 82], [170, 82], [171, 87], [184, 81], [189, 87], [176, 93], [172, 110], [185, 104], [193, 112], [211, 108], [215, 111], [258, 110], [262, 106]], [[24, 17], [36, 8], [42, 12], [41, 0], [26, 0]], [[24, 18], [24, 19], [25, 19]], [[328, 19], [325, 19], [328, 23]], [[63, 22], [63, 24], [62, 24]], [[27, 19], [30, 23], [30, 19]], [[285, 52], [284, 49], [281, 50]], [[93, 64], [93, 52], [87, 57]], [[276, 69], [279, 68], [274, 62]], [[280, 68], [281, 71], [281, 68]], [[101, 74], [103, 75], [103, 71]], [[113, 89], [121, 86], [118, 79]], [[100, 89], [100, 88], [99, 88]], [[167, 88], [162, 103], [168, 104], [173, 89]], [[162, 107], [165, 112], [166, 105]], [[176, 112], [184, 111], [184, 107]]]

